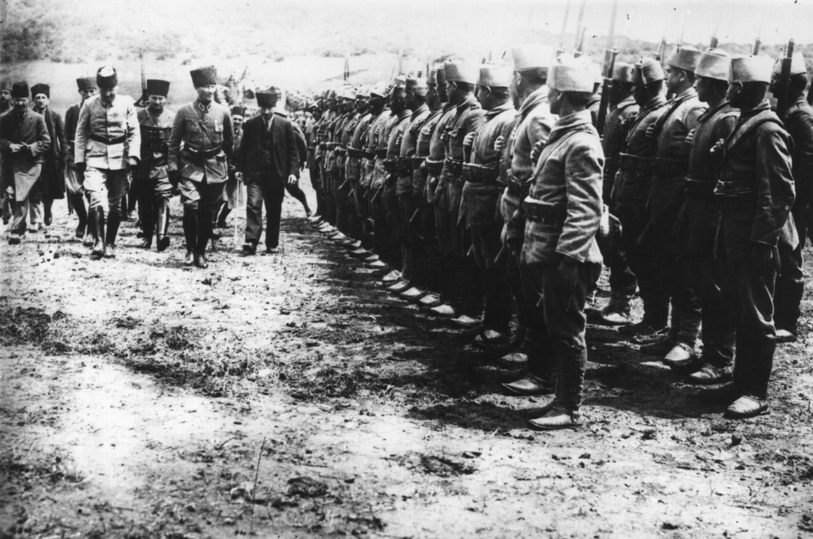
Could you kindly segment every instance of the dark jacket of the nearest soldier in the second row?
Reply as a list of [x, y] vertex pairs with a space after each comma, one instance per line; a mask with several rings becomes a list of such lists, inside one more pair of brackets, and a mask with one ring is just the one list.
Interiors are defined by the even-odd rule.
[[715, 187], [722, 209], [722, 246], [729, 259], [747, 257], [752, 244], [794, 248], [793, 173], [789, 136], [763, 101], [741, 113], [725, 140], [720, 180]]

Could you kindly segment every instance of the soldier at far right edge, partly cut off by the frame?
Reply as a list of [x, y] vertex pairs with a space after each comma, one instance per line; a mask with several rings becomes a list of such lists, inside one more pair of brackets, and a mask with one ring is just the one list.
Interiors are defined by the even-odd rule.
[[[781, 62], [773, 71], [772, 93], [779, 97], [776, 84], [781, 73]], [[813, 107], [804, 99], [807, 87], [807, 68], [802, 53], [793, 54], [788, 84], [788, 109], [782, 115], [785, 129], [793, 139], [793, 181], [796, 200], [793, 202], [793, 222], [799, 235], [799, 244], [793, 251], [783, 249], [782, 271], [776, 276], [774, 296], [774, 320], [776, 321], [776, 342], [787, 343], [797, 338], [797, 323], [802, 314], [800, 304], [805, 291], [802, 271], [802, 251], [807, 240], [808, 212], [813, 197]]]

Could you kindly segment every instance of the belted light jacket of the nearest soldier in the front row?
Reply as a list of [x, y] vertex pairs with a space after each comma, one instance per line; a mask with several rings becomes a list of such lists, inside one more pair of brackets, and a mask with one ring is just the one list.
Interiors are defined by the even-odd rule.
[[602, 220], [604, 152], [590, 111], [560, 118], [533, 171], [526, 204], [550, 213], [549, 222], [528, 218], [522, 261], [557, 263], [602, 261], [596, 233]]

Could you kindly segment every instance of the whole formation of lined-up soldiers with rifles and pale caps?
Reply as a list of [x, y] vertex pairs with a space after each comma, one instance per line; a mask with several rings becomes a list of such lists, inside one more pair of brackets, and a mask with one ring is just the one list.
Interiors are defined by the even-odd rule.
[[[551, 57], [522, 45], [511, 67], [449, 61], [425, 79], [323, 93], [310, 107], [312, 221], [373, 268], [386, 265], [370, 249], [397, 242], [385, 286], [441, 316], [454, 308], [427, 282], [471, 255], [484, 313], [456, 320], [480, 325], [476, 344], [505, 345], [501, 362], [523, 373], [506, 390], [555, 394], [534, 428], [580, 424], [588, 316], [693, 382], [732, 382], [711, 392], [726, 416], [766, 412], [776, 343], [796, 336], [804, 286], [803, 58], [781, 117], [768, 100], [780, 64], [766, 56], [684, 46], [663, 65], [617, 63], [600, 138], [598, 70], [567, 54], [549, 69]], [[602, 261], [610, 300], [585, 309]]]

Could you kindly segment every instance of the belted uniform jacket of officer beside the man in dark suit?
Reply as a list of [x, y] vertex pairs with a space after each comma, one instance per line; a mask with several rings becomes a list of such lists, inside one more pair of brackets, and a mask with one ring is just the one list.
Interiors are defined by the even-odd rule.
[[[181, 177], [193, 182], [206, 179], [207, 183], [223, 183], [228, 179], [226, 160], [232, 157], [234, 148], [232, 114], [215, 101], [208, 105], [197, 99], [187, 103], [175, 114], [168, 146], [170, 172], [180, 170]], [[192, 153], [215, 151], [215, 155], [205, 158]]]

